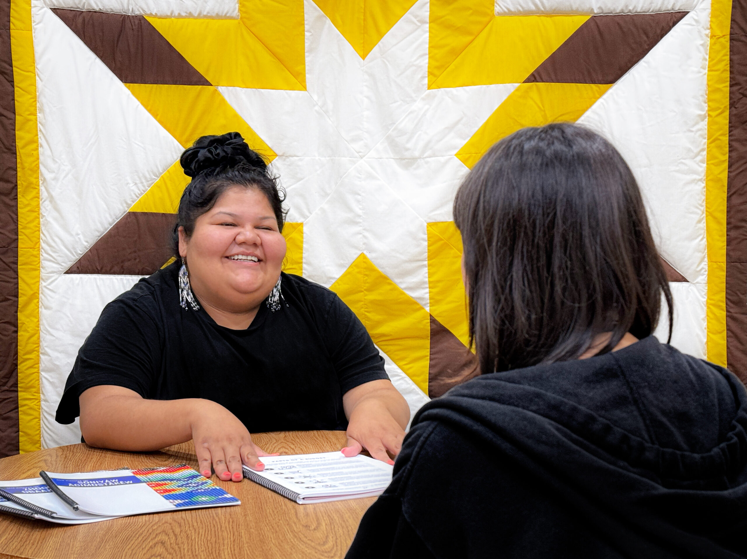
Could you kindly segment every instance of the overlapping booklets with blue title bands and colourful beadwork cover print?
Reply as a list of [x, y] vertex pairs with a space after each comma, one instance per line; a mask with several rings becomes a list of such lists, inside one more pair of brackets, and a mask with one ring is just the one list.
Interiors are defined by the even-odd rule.
[[[0, 492], [0, 499], [3, 495], [8, 497], [0, 502], [0, 507], [13, 510], [2, 511], [17, 513], [25, 509], [37, 519], [82, 524], [132, 514], [241, 504], [184, 464], [72, 474], [42, 472], [42, 475], [43, 479], [0, 481], [0, 489], [4, 491]], [[14, 502], [8, 493], [22, 502], [17, 499]], [[34, 510], [29, 503], [42, 510]]]

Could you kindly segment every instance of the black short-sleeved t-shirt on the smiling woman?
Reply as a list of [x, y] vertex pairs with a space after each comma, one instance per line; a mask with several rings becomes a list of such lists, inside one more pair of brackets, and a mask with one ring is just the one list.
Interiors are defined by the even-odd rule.
[[78, 396], [114, 384], [146, 399], [204, 398], [249, 432], [347, 428], [342, 396], [388, 378], [362, 323], [335, 293], [282, 274], [282, 307], [263, 302], [246, 330], [179, 306], [179, 264], [143, 278], [102, 311], [67, 378], [60, 423]]

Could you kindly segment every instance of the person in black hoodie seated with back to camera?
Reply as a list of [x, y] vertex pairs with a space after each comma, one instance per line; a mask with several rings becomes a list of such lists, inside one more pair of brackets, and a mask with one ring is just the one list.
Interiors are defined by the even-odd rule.
[[638, 186], [525, 128], [454, 202], [482, 376], [421, 408], [347, 557], [738, 558], [747, 396], [651, 335], [672, 296]]

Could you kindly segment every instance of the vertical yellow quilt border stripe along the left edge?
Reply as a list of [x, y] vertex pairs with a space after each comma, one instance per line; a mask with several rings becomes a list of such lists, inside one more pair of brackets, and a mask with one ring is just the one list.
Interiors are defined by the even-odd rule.
[[18, 158], [19, 450], [41, 448], [39, 389], [39, 131], [31, 1], [11, 0], [10, 48], [16, 95]]

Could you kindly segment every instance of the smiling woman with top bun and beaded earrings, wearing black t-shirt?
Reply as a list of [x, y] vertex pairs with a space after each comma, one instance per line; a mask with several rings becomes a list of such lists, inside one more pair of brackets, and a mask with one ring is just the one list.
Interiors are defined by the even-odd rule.
[[199, 469], [263, 469], [249, 431], [346, 429], [391, 463], [409, 407], [365, 328], [335, 293], [281, 272], [276, 178], [241, 136], [182, 154], [175, 263], [105, 307], [57, 410], [92, 446], [155, 450], [193, 439]]

